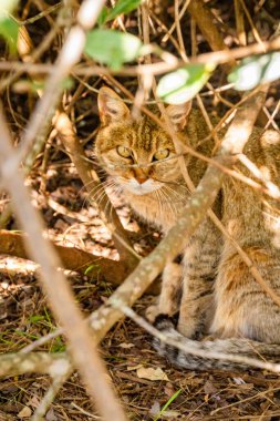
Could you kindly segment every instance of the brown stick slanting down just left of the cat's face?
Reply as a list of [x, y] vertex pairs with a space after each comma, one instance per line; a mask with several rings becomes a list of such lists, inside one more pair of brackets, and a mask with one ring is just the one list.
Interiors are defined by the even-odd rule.
[[[111, 205], [111, 207], [107, 206], [107, 204], [111, 203], [110, 198], [102, 186], [97, 174], [93, 170], [92, 165], [86, 161], [84, 150], [75, 136], [72, 123], [66, 113], [58, 112], [55, 117], [55, 127], [58, 130], [59, 137], [63, 142], [66, 152], [75, 165], [84, 186], [90, 193], [89, 198], [91, 203], [94, 206], [97, 206], [102, 220], [112, 233], [121, 260], [123, 260], [123, 264], [126, 265], [127, 268], [134, 268], [139, 260], [139, 256], [129, 246], [125, 229], [123, 228], [113, 205]], [[100, 203], [96, 203], [91, 196], [91, 191], [96, 186], [100, 186], [103, 192], [102, 201]]]

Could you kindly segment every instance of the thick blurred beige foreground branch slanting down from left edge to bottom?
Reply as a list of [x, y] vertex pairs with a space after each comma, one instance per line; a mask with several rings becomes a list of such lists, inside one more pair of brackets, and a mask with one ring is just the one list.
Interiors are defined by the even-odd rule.
[[[58, 267], [59, 258], [51, 244], [43, 238], [43, 223], [38, 212], [32, 207], [23, 174], [12, 172], [7, 163], [14, 153], [10, 133], [0, 111], [1, 144], [0, 166], [1, 178], [11, 196], [19, 223], [29, 234], [27, 248], [31, 257], [41, 265], [41, 280], [49, 296], [54, 315], [60, 320], [69, 339], [69, 349], [74, 364], [79, 368], [87, 389], [94, 398], [98, 412], [105, 420], [126, 420], [115, 394], [106, 380], [106, 371], [100, 359], [96, 347], [90, 336], [90, 329], [74, 302], [74, 295]], [[106, 402], [106, 404], [104, 404]]]

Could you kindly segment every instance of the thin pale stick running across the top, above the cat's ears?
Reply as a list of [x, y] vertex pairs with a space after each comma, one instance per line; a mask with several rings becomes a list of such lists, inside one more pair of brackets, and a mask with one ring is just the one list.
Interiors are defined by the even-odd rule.
[[[277, 37], [276, 39], [271, 41], [262, 42], [263, 48], [266, 49], [266, 52], [268, 51], [274, 51], [280, 49], [280, 37]], [[189, 58], [189, 63], [191, 64], [224, 64], [228, 62], [232, 62], [232, 60], [236, 59], [242, 59], [247, 55], [251, 54], [260, 54], [263, 53], [262, 45], [255, 43], [251, 45], [246, 47], [239, 47], [231, 50], [221, 50], [221, 51], [215, 51], [209, 53], [203, 53], [197, 57]], [[168, 61], [168, 62], [157, 62], [153, 64], [142, 64], [137, 66], [128, 66], [123, 68], [120, 70], [111, 70], [104, 66], [100, 65], [92, 65], [91, 68], [82, 68], [82, 66], [75, 66], [73, 69], [73, 74], [83, 75], [83, 76], [92, 76], [92, 75], [111, 75], [111, 74], [120, 74], [120, 75], [126, 75], [126, 76], [136, 76], [136, 75], [144, 75], [144, 74], [162, 74], [169, 72], [172, 70], [176, 70], [178, 68], [182, 68], [186, 65], [184, 60], [177, 60], [177, 61]], [[30, 74], [32, 73], [52, 73], [53, 72], [53, 65], [52, 64], [32, 64], [32, 63], [19, 63], [19, 62], [9, 62], [9, 61], [0, 61], [0, 71], [10, 71], [10, 70], [21, 70], [23, 72], [28, 72]]]

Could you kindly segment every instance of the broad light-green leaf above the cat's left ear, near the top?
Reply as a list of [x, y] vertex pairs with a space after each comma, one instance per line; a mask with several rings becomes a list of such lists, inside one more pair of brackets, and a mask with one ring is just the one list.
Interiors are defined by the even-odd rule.
[[118, 70], [123, 63], [137, 58], [141, 47], [141, 40], [129, 33], [95, 29], [87, 34], [85, 53], [100, 63]]

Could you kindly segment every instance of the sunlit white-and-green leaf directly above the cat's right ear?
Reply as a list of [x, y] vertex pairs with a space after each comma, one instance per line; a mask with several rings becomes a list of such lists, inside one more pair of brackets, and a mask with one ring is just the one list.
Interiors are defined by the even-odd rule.
[[183, 104], [191, 100], [211, 75], [214, 64], [188, 64], [163, 76], [157, 95], [168, 104]]

